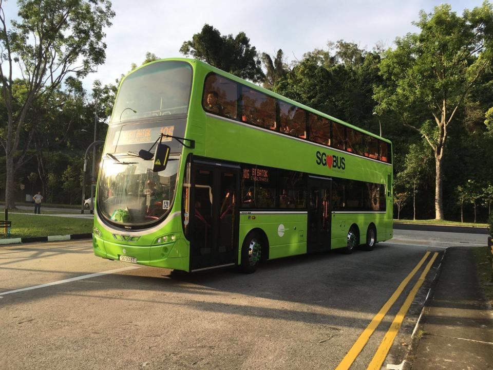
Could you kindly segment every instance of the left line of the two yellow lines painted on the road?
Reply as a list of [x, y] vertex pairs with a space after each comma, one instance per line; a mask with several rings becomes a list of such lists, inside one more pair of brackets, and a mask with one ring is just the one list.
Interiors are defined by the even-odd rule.
[[365, 330], [363, 330], [362, 334], [359, 336], [359, 338], [356, 340], [356, 342], [353, 344], [347, 355], [344, 357], [344, 359], [339, 363], [339, 365], [335, 368], [335, 370], [347, 370], [351, 366], [351, 364], [354, 362], [356, 357], [359, 355], [363, 347], [366, 345], [368, 340], [370, 339], [370, 336], [373, 334], [373, 331], [375, 331], [376, 327], [380, 322], [384, 319], [385, 315], [387, 314], [387, 311], [392, 307], [394, 302], [399, 298], [401, 295], [402, 291], [406, 287], [406, 285], [409, 283], [409, 281], [412, 279], [412, 277], [418, 272], [418, 270], [421, 268], [421, 266], [424, 264], [426, 261], [426, 258], [430, 255], [430, 252], [426, 252], [423, 258], [421, 258], [421, 261], [414, 267], [414, 269], [409, 273], [409, 275], [406, 276], [406, 279], [402, 281], [402, 283], [397, 287], [397, 289], [394, 291], [392, 296], [389, 298], [389, 300], [382, 306], [380, 311], [375, 315], [373, 320], [371, 320], [370, 324], [366, 327]]

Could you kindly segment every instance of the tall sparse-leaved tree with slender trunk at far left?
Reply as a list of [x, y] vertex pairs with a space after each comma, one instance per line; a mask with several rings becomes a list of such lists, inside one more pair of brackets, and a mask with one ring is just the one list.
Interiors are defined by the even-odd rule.
[[[104, 62], [103, 29], [115, 16], [108, 0], [18, 0], [17, 4], [18, 20], [8, 28], [0, 0], [0, 84], [7, 112], [0, 144], [6, 154], [6, 208], [15, 208], [15, 172], [24, 164], [34, 137], [33, 127], [26, 126], [32, 105], [47, 99], [66, 77], [86, 76]], [[23, 76], [22, 100], [14, 96], [14, 64]]]

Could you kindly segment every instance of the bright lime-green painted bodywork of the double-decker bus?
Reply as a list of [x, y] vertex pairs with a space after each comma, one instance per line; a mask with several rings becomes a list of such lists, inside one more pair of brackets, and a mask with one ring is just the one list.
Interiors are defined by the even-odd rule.
[[[388, 178], [392, 179], [392, 165], [368, 160], [340, 152], [329, 147], [312, 145], [294, 138], [268, 133], [255, 127], [243, 125], [227, 119], [217, 119], [206, 115], [202, 108], [202, 93], [205, 77], [210, 72], [225, 76], [233, 81], [250, 86], [267, 93], [275, 98], [296, 104], [312, 113], [330, 118], [353, 128], [346, 122], [324, 115], [302, 104], [283, 98], [272, 91], [263, 89], [257, 85], [241, 80], [229, 73], [223, 72], [206, 63], [184, 58], [165, 59], [151, 62], [158, 63], [166, 60], [184, 61], [193, 68], [193, 82], [191, 102], [188, 108], [185, 138], [195, 140], [195, 149], [183, 146], [182, 160], [178, 171], [175, 201], [167, 218], [158, 227], [145, 231], [126, 232], [122, 229], [111, 228], [106, 225], [97, 212], [97, 204], [94, 212], [94, 227], [98, 232], [93, 234], [94, 254], [103, 258], [118, 260], [119, 255], [128, 255], [137, 258], [137, 263], [148, 266], [165, 267], [171, 269], [189, 270], [189, 241], [184, 237], [181, 199], [184, 168], [189, 153], [201, 157], [222, 159], [232, 162], [254, 163], [257, 165], [289, 169], [306, 172], [314, 175], [333, 176], [360, 181], [386, 184]], [[146, 65], [140, 67], [145, 68]], [[132, 71], [130, 73], [133, 73]], [[127, 75], [128, 76], [128, 75]], [[123, 82], [123, 81], [122, 81]], [[117, 95], [118, 99], [118, 95]], [[359, 130], [359, 129], [358, 129]], [[361, 130], [363, 131], [363, 130]], [[374, 134], [364, 133], [382, 139]], [[390, 143], [390, 141], [382, 139]], [[345, 170], [329, 169], [316, 164], [316, 152], [325, 152], [327, 155], [344, 155], [346, 159]], [[389, 176], [390, 175], [390, 176]], [[358, 227], [361, 235], [360, 242], [365, 242], [368, 225], [373, 223], [376, 227], [377, 241], [385, 241], [392, 238], [392, 191], [386, 196], [386, 213], [333, 213], [332, 214], [332, 238], [331, 248], [343, 248], [347, 244], [347, 234], [351, 225]], [[289, 211], [289, 210], [287, 210]], [[252, 211], [255, 213], [255, 211]], [[279, 211], [281, 213], [281, 211]], [[285, 232], [278, 234], [278, 226], [283, 224]], [[241, 263], [241, 245], [245, 236], [254, 229], [259, 229], [266, 234], [269, 244], [269, 259], [290, 255], [304, 254], [307, 252], [307, 213], [302, 214], [257, 214], [255, 219], [248, 214], [240, 212], [239, 238], [238, 238], [238, 264]], [[100, 234], [100, 235], [99, 235]], [[117, 240], [113, 234], [134, 235], [138, 234], [137, 242], [125, 242]], [[157, 244], [157, 239], [163, 235], [174, 235], [174, 241]], [[123, 251], [125, 250], [125, 252]]]

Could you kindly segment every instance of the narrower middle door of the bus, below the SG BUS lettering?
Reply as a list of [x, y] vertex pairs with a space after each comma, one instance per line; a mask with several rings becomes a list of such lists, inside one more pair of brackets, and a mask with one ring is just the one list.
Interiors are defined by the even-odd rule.
[[308, 177], [308, 253], [330, 249], [331, 183], [330, 178]]

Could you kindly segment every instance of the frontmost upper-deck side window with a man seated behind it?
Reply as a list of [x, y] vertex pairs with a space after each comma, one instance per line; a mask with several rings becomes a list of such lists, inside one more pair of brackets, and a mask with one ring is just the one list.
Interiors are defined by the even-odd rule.
[[212, 73], [204, 84], [202, 105], [208, 112], [219, 116], [237, 118], [237, 84]]

